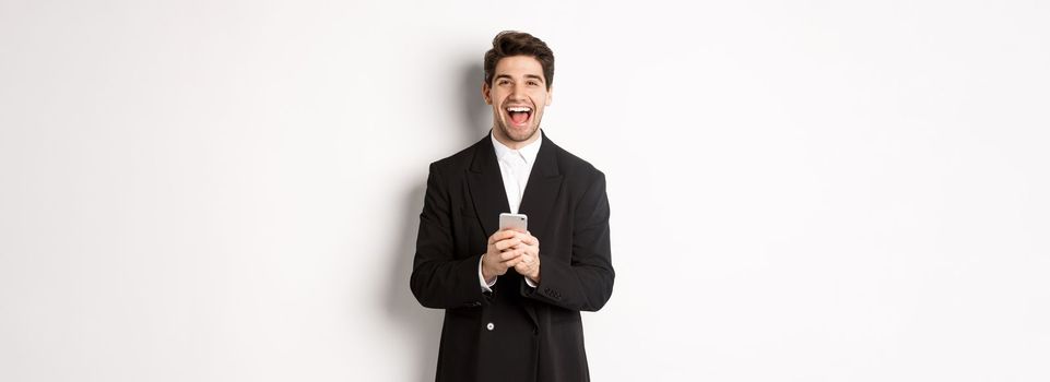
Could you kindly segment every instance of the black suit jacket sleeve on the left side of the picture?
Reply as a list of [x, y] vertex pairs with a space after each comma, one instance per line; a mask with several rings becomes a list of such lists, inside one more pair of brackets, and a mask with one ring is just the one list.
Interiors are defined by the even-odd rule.
[[426, 180], [420, 234], [409, 286], [421, 305], [427, 308], [453, 309], [487, 305], [477, 280], [481, 254], [456, 259], [452, 252], [452, 227], [447, 179], [430, 165]]

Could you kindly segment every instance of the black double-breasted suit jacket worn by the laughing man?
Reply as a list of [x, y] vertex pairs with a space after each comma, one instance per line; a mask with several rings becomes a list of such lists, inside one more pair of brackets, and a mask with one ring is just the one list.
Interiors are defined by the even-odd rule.
[[510, 270], [484, 294], [477, 262], [509, 210], [488, 135], [430, 164], [410, 284], [445, 309], [436, 380], [588, 381], [580, 311], [613, 291], [605, 176], [544, 134], [519, 208], [540, 240], [540, 284]]

